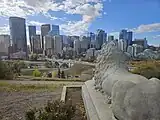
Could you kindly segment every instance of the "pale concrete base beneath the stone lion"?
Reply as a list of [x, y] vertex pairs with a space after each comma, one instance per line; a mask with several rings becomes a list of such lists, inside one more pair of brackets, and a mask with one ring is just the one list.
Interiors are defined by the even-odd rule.
[[94, 88], [94, 80], [85, 82], [82, 86], [82, 97], [88, 120], [114, 120], [110, 105], [105, 103], [105, 97]]

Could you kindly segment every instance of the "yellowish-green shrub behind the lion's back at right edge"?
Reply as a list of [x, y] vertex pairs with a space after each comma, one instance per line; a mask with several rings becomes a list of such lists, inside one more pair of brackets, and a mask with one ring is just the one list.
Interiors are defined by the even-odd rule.
[[145, 76], [150, 79], [156, 77], [160, 79], [160, 63], [158, 62], [144, 62], [139, 64], [132, 73]]

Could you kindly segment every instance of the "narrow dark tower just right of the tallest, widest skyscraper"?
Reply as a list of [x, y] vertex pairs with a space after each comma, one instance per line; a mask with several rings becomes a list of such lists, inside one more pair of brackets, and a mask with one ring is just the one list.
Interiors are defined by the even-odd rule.
[[28, 26], [29, 29], [29, 41], [31, 46], [31, 51], [33, 51], [33, 44], [32, 44], [32, 36], [36, 36], [36, 26]]

